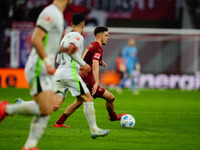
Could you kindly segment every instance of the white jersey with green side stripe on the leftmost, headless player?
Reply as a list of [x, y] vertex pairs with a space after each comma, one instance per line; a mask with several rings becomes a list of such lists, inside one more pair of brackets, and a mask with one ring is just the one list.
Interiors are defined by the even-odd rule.
[[[47, 32], [43, 41], [45, 52], [53, 63], [52, 65], [54, 65], [55, 57], [59, 50], [59, 44], [64, 29], [63, 13], [55, 4], [51, 4], [40, 13], [36, 22], [36, 26]], [[34, 47], [31, 50], [25, 70], [27, 76], [29, 76], [27, 78], [28, 82], [34, 76], [47, 74], [45, 64], [38, 56], [38, 53]]]

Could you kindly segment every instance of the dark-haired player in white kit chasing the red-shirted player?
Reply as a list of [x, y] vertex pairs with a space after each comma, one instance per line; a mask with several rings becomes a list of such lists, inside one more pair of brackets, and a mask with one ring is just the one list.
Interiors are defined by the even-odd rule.
[[93, 98], [79, 75], [80, 66], [81, 69], [83, 69], [83, 67], [88, 67], [88, 73], [91, 71], [90, 66], [81, 59], [84, 40], [81, 34], [84, 24], [85, 21], [82, 14], [73, 15], [72, 31], [63, 37], [61, 49], [64, 51], [65, 47], [68, 48], [69, 45], [73, 45], [77, 48], [77, 52], [72, 55], [68, 55], [67, 53], [59, 54], [60, 56], [58, 59], [60, 60], [58, 61], [60, 65], [56, 70], [54, 78], [57, 84], [57, 95], [62, 96], [62, 100], [65, 99], [67, 91], [69, 90], [72, 96], [76, 96], [77, 103], [82, 103], [84, 101], [84, 113], [90, 126], [91, 137], [95, 139], [96, 137], [107, 135], [109, 130], [102, 130], [97, 127]]

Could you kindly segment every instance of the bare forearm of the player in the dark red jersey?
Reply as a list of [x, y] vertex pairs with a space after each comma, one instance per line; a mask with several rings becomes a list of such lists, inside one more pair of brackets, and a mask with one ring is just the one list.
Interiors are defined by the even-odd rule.
[[92, 73], [94, 76], [95, 84], [92, 88], [92, 95], [94, 95], [97, 91], [98, 85], [99, 85], [99, 61], [98, 60], [93, 60], [92, 63]]

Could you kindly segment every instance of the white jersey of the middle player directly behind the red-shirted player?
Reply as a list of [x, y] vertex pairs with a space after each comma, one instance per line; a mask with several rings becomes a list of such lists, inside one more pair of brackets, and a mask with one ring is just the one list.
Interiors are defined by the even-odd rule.
[[[66, 34], [62, 41], [61, 46], [68, 47], [70, 43], [74, 43], [76, 47], [78, 48], [79, 57], [81, 58], [81, 55], [83, 53], [83, 36], [78, 32], [70, 32]], [[81, 77], [79, 76], [79, 69], [80, 64], [77, 63], [75, 60], [73, 60], [67, 53], [61, 53], [58, 56], [61, 60], [60, 65], [58, 69], [56, 70], [56, 73], [54, 75], [55, 80], [63, 80], [63, 79], [74, 79], [74, 80], [80, 80]]]

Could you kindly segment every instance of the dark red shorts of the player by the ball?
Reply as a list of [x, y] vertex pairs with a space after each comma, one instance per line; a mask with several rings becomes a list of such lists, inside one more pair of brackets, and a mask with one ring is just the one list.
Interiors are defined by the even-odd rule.
[[[93, 79], [89, 79], [89, 78], [83, 78], [83, 81], [86, 83], [89, 91], [90, 91], [90, 94], [92, 95], [92, 88], [95, 84], [94, 80]], [[102, 88], [100, 85], [98, 86], [97, 88], [97, 91], [96, 93], [92, 96], [94, 99], [97, 98], [97, 97], [102, 97], [102, 95], [104, 94], [106, 90], [104, 88]]]

